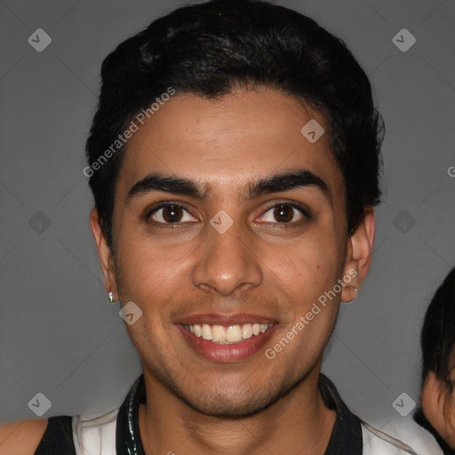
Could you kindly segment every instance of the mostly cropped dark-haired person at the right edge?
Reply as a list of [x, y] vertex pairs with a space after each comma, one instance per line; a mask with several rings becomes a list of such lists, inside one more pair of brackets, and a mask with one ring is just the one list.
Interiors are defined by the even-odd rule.
[[455, 267], [427, 308], [420, 336], [423, 355], [421, 406], [414, 420], [444, 455], [455, 453]]

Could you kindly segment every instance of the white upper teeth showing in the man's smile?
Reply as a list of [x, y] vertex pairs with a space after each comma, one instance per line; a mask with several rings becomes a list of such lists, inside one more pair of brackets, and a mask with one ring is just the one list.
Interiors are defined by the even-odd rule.
[[242, 339], [249, 339], [259, 335], [272, 327], [272, 323], [244, 323], [243, 325], [209, 325], [208, 323], [185, 325], [188, 331], [196, 337], [211, 340], [213, 343], [238, 343]]

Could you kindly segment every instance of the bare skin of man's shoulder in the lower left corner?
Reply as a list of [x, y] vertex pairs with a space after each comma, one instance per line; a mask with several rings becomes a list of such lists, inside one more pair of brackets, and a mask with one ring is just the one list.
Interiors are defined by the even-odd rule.
[[34, 455], [47, 424], [47, 419], [25, 419], [0, 425], [0, 453]]

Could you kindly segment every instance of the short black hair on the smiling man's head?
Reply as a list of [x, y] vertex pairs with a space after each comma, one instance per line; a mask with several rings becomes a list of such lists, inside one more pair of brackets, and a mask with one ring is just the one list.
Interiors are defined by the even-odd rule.
[[331, 151], [344, 177], [348, 234], [368, 206], [379, 204], [384, 123], [368, 76], [341, 39], [299, 12], [258, 0], [186, 4], [119, 44], [103, 61], [101, 79], [85, 175], [112, 252], [124, 146], [108, 160], [103, 154], [138, 112], [170, 88], [219, 99], [235, 88], [267, 87], [317, 109], [329, 124]]

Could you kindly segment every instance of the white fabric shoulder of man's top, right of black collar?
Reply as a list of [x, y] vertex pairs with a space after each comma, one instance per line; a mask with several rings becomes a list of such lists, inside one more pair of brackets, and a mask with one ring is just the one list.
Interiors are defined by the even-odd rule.
[[362, 422], [363, 453], [443, 455], [435, 438], [409, 419], [388, 420], [377, 429]]

